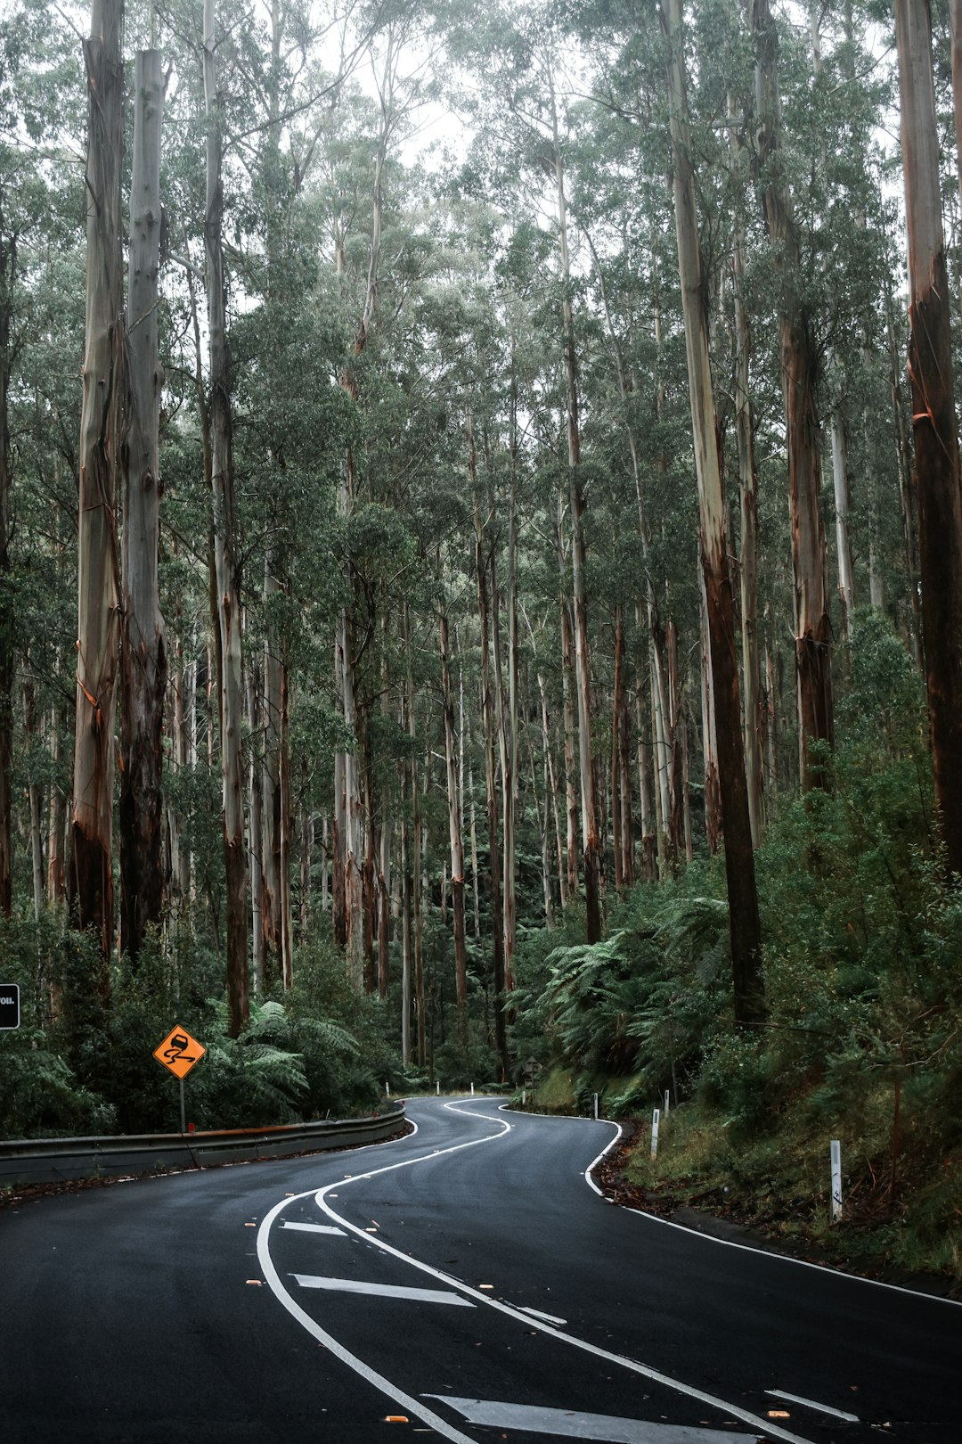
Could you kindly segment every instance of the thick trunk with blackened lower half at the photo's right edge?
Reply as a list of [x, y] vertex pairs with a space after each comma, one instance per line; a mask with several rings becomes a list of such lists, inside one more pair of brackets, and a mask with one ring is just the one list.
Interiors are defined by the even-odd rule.
[[962, 491], [929, 7], [896, 0], [926, 689], [945, 862], [962, 875]]

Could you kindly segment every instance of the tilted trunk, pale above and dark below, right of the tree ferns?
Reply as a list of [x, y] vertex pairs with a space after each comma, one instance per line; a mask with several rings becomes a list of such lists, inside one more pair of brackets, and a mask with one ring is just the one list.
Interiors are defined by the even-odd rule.
[[708, 361], [695, 180], [688, 136], [681, 0], [662, 0], [662, 26], [669, 46], [666, 69], [675, 166], [675, 235], [685, 318], [688, 390], [698, 475], [701, 557], [718, 723], [718, 778], [724, 814], [734, 1015], [738, 1024], [759, 1024], [764, 1019], [762, 928], [741, 747], [734, 598], [725, 550], [724, 495]]

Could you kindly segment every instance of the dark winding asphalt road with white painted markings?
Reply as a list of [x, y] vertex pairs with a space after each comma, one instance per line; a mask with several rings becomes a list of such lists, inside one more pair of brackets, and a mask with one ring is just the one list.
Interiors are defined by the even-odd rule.
[[610, 1123], [408, 1116], [3, 1210], [1, 1444], [962, 1441], [962, 1307], [613, 1207]]

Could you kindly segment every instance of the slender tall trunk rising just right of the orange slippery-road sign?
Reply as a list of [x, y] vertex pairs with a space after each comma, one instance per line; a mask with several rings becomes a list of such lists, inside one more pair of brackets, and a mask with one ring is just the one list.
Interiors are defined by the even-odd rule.
[[222, 111], [216, 84], [215, 0], [203, 3], [203, 97], [208, 121], [206, 283], [211, 355], [211, 485], [213, 491], [213, 566], [219, 637], [221, 777], [224, 786], [224, 862], [226, 875], [228, 1031], [237, 1037], [250, 1018], [247, 970], [247, 855], [244, 849], [244, 653], [238, 585], [238, 530], [234, 508], [231, 362], [224, 280], [224, 189], [221, 179]]

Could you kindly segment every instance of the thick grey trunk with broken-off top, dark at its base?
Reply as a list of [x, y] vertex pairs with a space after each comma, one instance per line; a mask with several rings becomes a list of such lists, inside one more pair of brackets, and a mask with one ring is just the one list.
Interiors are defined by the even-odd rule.
[[163, 908], [163, 709], [167, 651], [160, 615], [160, 51], [137, 55], [130, 185], [124, 484], [120, 946], [137, 957]]

